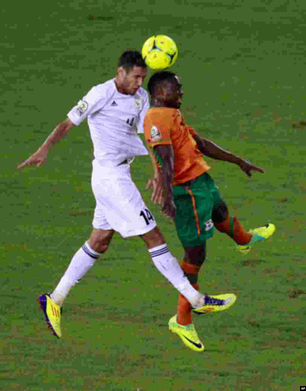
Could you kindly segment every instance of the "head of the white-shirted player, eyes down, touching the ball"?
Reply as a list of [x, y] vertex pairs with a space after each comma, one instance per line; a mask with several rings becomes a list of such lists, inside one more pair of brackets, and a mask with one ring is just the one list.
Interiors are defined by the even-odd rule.
[[118, 61], [118, 72], [115, 83], [118, 91], [123, 94], [134, 95], [142, 86], [147, 76], [147, 65], [140, 52], [127, 50], [122, 53]]

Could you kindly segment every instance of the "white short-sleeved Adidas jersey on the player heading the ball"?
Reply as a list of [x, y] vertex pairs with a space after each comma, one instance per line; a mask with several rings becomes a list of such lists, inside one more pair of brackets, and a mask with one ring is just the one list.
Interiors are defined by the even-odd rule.
[[87, 117], [95, 159], [100, 165], [115, 167], [127, 158], [148, 154], [134, 129], [143, 133], [148, 109], [147, 91], [139, 88], [135, 95], [124, 95], [111, 79], [91, 88], [68, 118], [79, 125]]

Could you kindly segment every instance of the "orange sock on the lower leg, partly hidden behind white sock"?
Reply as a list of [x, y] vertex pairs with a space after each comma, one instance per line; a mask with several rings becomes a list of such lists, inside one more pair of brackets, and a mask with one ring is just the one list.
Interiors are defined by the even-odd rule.
[[[181, 268], [183, 269], [184, 273], [189, 276], [188, 279], [191, 281], [192, 281], [192, 277], [195, 280], [197, 280], [197, 274], [199, 273], [200, 267], [201, 266], [192, 265], [192, 264], [189, 264], [185, 261], [183, 261], [181, 264]], [[195, 289], [197, 289], [197, 291], [199, 291], [200, 287], [197, 282], [195, 282], [195, 283], [191, 282], [191, 285]], [[183, 325], [183, 326], [187, 326], [187, 325], [190, 325], [190, 323], [192, 323], [191, 305], [190, 305], [189, 301], [186, 299], [186, 297], [183, 296], [182, 294], [179, 295], [179, 303], [177, 306], [176, 321], [177, 321], [177, 323], [179, 323], [180, 325]]]

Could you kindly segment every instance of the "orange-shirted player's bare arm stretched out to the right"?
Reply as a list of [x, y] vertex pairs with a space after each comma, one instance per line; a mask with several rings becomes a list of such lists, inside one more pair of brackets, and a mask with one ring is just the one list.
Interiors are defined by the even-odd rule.
[[261, 173], [264, 172], [264, 170], [260, 167], [251, 164], [249, 161], [242, 159], [229, 151], [225, 151], [225, 149], [219, 147], [212, 141], [206, 140], [205, 138], [200, 138], [200, 136], [197, 134], [194, 134], [193, 138], [197, 142], [197, 147], [202, 152], [202, 154], [209, 156], [209, 158], [235, 163], [240, 167], [240, 169], [242, 169], [243, 172], [245, 172], [245, 174], [247, 174], [247, 176], [252, 176], [251, 171], [258, 171]]

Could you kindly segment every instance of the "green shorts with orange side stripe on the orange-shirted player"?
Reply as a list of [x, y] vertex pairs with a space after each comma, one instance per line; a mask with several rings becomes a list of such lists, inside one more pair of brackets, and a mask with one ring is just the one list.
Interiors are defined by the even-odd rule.
[[200, 246], [213, 236], [211, 213], [222, 199], [213, 179], [207, 172], [182, 185], [173, 186], [177, 208], [175, 226], [184, 247]]

